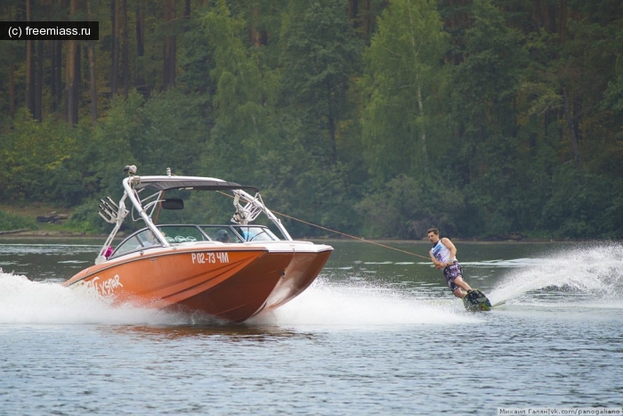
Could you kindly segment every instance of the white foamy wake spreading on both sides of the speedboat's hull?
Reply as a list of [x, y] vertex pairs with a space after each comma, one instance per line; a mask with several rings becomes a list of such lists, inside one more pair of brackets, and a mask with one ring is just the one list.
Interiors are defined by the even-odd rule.
[[[336, 328], [400, 327], [404, 324], [479, 322], [452, 302], [409, 298], [382, 287], [340, 285], [319, 279], [301, 296], [260, 314], [246, 325]], [[203, 314], [183, 314], [138, 306], [111, 305], [61, 286], [0, 272], [1, 324], [206, 325], [220, 324]]]

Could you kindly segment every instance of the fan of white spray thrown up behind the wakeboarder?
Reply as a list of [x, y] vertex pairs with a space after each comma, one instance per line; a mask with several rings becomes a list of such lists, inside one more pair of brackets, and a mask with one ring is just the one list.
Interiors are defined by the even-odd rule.
[[564, 249], [506, 274], [489, 298], [499, 304], [601, 302], [623, 306], [623, 246]]

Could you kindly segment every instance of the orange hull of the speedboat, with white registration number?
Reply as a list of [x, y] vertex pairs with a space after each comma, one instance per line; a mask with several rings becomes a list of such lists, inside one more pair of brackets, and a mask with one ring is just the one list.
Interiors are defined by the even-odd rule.
[[117, 303], [177, 307], [243, 322], [295, 298], [330, 254], [251, 247], [148, 249], [93, 265], [64, 284]]

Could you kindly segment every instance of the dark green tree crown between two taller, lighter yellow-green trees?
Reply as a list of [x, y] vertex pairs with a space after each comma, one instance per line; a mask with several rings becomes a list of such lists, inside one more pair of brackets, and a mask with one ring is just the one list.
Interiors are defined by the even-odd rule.
[[340, 157], [338, 128], [351, 111], [349, 79], [363, 50], [345, 7], [344, 0], [292, 2], [282, 35], [283, 105], [301, 121], [307, 151], [330, 164]]

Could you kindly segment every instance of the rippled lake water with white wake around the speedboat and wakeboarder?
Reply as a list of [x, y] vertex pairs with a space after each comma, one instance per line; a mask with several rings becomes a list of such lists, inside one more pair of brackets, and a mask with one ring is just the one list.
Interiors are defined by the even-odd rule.
[[0, 414], [623, 414], [623, 246], [455, 243], [506, 304], [466, 313], [424, 259], [336, 242], [299, 298], [219, 325], [61, 287], [96, 243], [2, 240]]

